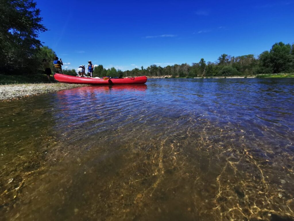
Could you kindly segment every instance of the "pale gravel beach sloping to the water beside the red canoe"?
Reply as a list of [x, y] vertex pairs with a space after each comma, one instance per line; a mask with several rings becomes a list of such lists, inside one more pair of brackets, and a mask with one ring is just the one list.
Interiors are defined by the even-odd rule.
[[0, 85], [0, 101], [8, 101], [31, 95], [53, 93], [64, 89], [85, 87], [86, 84], [7, 84]]

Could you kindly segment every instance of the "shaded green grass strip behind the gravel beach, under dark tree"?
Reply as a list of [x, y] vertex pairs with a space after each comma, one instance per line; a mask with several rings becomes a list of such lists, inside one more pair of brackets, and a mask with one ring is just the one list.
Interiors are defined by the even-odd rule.
[[[54, 78], [50, 76], [51, 82]], [[0, 84], [34, 84], [48, 83], [46, 74], [31, 74], [31, 75], [6, 75], [0, 74]]]

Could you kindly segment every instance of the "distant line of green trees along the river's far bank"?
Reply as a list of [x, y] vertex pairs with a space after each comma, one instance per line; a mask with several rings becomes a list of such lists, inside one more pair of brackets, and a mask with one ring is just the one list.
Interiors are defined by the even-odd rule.
[[253, 54], [238, 57], [222, 54], [217, 62], [206, 62], [203, 58], [198, 63], [174, 64], [166, 67], [150, 65], [147, 68], [135, 68], [122, 72], [115, 68], [105, 69], [102, 65], [94, 68], [94, 77], [103, 76], [164, 76], [172, 77], [208, 77], [277, 74], [294, 72], [294, 44], [275, 43], [270, 51], [264, 51], [257, 58]]

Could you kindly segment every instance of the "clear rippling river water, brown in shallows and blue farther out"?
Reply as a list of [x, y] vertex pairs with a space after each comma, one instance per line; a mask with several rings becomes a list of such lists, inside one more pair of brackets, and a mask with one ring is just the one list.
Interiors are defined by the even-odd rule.
[[0, 103], [0, 220], [294, 220], [294, 79], [148, 79]]

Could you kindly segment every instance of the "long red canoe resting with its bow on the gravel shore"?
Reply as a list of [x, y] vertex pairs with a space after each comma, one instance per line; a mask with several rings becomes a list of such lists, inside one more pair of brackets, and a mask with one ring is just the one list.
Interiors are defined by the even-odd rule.
[[76, 77], [66, 74], [54, 74], [56, 81], [68, 84], [145, 84], [146, 76], [141, 77], [127, 77], [127, 78], [93, 78], [93, 77]]

